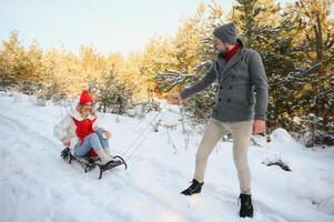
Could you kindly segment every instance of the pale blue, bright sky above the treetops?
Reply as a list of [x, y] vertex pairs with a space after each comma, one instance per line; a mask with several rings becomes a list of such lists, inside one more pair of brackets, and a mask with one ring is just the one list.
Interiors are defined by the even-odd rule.
[[[234, 1], [216, 0], [225, 12]], [[140, 51], [153, 36], [176, 33], [182, 18], [211, 0], [0, 0], [0, 40], [17, 30], [23, 46], [99, 53]], [[279, 0], [282, 4], [293, 0]]]

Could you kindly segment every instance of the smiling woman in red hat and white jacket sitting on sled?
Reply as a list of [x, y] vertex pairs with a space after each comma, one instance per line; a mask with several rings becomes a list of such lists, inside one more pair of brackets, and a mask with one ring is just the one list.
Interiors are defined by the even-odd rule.
[[108, 139], [111, 133], [97, 124], [93, 99], [83, 90], [75, 109], [64, 117], [53, 129], [53, 134], [74, 157], [99, 157], [102, 164], [113, 162]]

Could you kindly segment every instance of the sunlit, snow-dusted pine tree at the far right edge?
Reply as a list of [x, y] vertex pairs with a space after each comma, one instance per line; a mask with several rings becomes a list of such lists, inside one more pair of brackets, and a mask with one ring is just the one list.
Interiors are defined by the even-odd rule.
[[[307, 133], [308, 145], [334, 144], [334, 20], [330, 19], [330, 0], [300, 0], [286, 8], [294, 21], [292, 34], [298, 34], [297, 64], [310, 70], [301, 77], [304, 85], [300, 91], [298, 107], [301, 128]], [[302, 89], [302, 90], [301, 90]]]

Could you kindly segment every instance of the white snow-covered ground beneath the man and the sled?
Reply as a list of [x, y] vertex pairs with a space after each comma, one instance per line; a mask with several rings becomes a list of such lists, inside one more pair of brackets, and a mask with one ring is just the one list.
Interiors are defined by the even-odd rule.
[[[255, 214], [240, 219], [231, 142], [220, 142], [210, 157], [202, 193], [180, 194], [192, 179], [203, 128], [185, 137], [176, 107], [162, 117], [159, 132], [150, 125], [154, 112], [119, 122], [104, 114], [115, 154], [124, 154], [142, 132], [151, 133], [124, 154], [128, 170], [109, 171], [102, 180], [60, 158], [52, 129], [64, 113], [62, 107], [34, 105], [33, 97], [0, 92], [1, 222], [334, 221], [334, 148], [305, 149], [283, 129], [271, 134], [272, 142], [260, 141], [264, 148], [250, 147]], [[276, 159], [292, 171], [263, 164]]]

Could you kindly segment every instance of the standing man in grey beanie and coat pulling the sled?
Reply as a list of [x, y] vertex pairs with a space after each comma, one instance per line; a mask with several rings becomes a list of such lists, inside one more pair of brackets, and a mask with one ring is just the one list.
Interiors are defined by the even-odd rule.
[[[236, 38], [235, 26], [226, 23], [213, 31], [214, 49], [219, 56], [209, 72], [194, 85], [168, 95], [171, 103], [203, 91], [215, 80], [219, 89], [211, 119], [196, 152], [195, 173], [185, 195], [200, 193], [204, 184], [206, 161], [215, 144], [229, 132], [233, 137], [233, 160], [240, 183], [240, 216], [253, 216], [251, 175], [247, 149], [251, 133], [265, 131], [267, 81], [260, 54], [243, 47]], [[255, 92], [254, 92], [255, 91]]]

